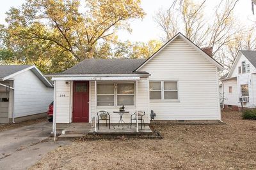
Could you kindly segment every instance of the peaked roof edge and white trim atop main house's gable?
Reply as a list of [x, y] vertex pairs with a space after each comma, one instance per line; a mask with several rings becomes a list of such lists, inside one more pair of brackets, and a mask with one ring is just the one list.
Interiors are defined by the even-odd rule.
[[147, 60], [145, 60], [145, 62], [143, 62], [140, 66], [138, 66], [136, 69], [134, 69], [134, 71], [138, 71], [141, 67], [143, 67], [148, 61], [150, 61], [151, 59], [153, 59], [157, 53], [161, 52], [161, 50], [163, 50], [163, 48], [167, 45], [169, 45], [170, 43], [172, 43], [172, 41], [174, 39], [176, 39], [177, 37], [180, 37], [182, 39], [184, 39], [186, 42], [189, 43], [189, 45], [193, 46], [195, 48], [195, 50], [197, 50], [198, 52], [200, 52], [206, 59], [208, 59], [210, 62], [212, 62], [212, 64], [214, 64], [216, 67], [218, 67], [219, 70], [223, 69], [223, 66], [216, 61], [215, 59], [213, 59], [210, 55], [208, 55], [207, 53], [204, 52], [204, 50], [202, 50], [199, 46], [195, 45], [195, 43], [193, 43], [190, 39], [186, 38], [186, 36], [184, 36], [182, 33], [178, 33], [175, 36], [173, 36], [172, 39], [170, 39], [169, 41], [167, 41], [167, 43], [165, 43], [161, 48], [159, 48], [159, 50], [157, 50], [157, 52], [155, 52], [151, 57], [149, 57]]

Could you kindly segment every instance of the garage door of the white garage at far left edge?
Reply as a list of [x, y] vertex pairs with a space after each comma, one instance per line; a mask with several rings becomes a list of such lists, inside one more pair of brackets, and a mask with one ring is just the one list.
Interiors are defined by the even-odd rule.
[[8, 122], [9, 96], [6, 92], [0, 92], [0, 123]]

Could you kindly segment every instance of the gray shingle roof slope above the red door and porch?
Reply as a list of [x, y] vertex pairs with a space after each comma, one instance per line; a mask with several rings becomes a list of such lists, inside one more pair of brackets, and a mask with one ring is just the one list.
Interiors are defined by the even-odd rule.
[[146, 59], [85, 59], [61, 74], [132, 74]]

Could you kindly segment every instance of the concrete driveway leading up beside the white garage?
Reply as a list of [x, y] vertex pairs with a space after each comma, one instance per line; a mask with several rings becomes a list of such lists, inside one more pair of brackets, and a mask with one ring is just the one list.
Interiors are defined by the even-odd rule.
[[52, 123], [40, 122], [0, 132], [0, 169], [28, 169], [45, 153], [71, 143], [54, 143], [49, 139], [51, 131]]

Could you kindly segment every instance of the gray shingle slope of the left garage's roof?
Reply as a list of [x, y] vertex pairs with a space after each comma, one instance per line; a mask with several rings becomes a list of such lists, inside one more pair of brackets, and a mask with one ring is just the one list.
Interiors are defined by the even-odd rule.
[[0, 65], [0, 78], [4, 78], [28, 67], [31, 67], [31, 65]]

